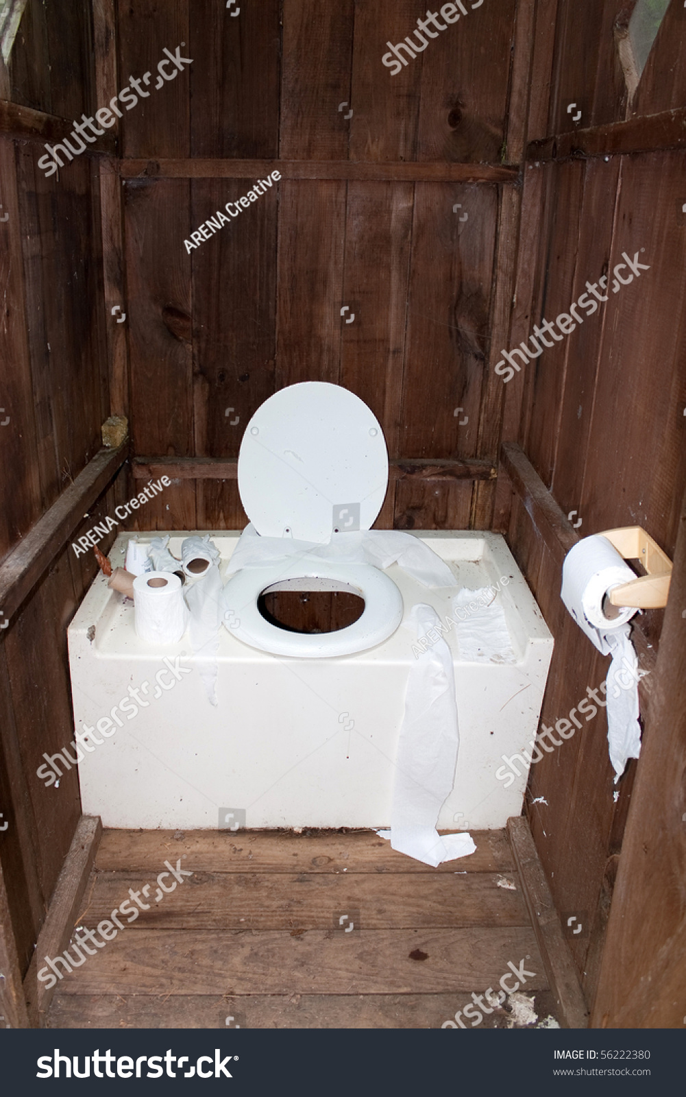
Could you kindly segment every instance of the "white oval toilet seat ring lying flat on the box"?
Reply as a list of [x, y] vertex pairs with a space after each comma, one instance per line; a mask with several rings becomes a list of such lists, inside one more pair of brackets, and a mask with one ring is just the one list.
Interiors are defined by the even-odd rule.
[[[266, 621], [258, 599], [273, 590], [352, 590], [365, 600], [362, 615], [336, 632], [286, 632]], [[224, 621], [250, 647], [271, 655], [318, 659], [365, 652], [396, 631], [402, 621], [402, 595], [392, 579], [371, 564], [296, 559], [288, 565], [245, 567], [224, 589]]]

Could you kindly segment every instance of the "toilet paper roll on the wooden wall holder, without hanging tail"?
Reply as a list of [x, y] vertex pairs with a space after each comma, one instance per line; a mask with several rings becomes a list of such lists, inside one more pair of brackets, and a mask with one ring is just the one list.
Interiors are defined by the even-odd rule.
[[603, 655], [609, 655], [606, 635], [619, 632], [637, 612], [630, 606], [613, 607], [608, 617], [603, 599], [613, 587], [636, 579], [636, 573], [601, 533], [584, 538], [571, 548], [562, 565], [562, 601], [580, 629]]

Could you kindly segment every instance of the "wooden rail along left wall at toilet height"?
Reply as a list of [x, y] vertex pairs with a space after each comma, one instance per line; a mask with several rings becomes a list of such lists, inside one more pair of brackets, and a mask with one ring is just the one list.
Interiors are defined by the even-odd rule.
[[[100, 450], [73, 484], [53, 504], [0, 564], [0, 612], [16, 612], [36, 583], [83, 521], [83, 514], [114, 478], [128, 455], [128, 442]], [[7, 625], [3, 625], [7, 627]], [[0, 631], [0, 636], [5, 635]]]

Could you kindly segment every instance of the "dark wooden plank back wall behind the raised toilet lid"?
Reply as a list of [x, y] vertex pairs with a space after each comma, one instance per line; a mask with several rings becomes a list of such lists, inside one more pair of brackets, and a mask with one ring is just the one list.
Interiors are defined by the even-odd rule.
[[[423, 0], [263, 0], [233, 18], [215, 0], [118, 0], [123, 79], [155, 72], [164, 46], [183, 42], [193, 58], [122, 122], [123, 167], [150, 166], [123, 180], [136, 454], [236, 456], [271, 393], [316, 380], [369, 404], [391, 456], [477, 453], [496, 184], [283, 180], [192, 255], [183, 242], [251, 185], [224, 166], [191, 178], [191, 158], [500, 162], [515, 0], [471, 11], [391, 77], [386, 43], [425, 10]], [[188, 161], [187, 178], [160, 178], [165, 159]], [[467, 528], [471, 496], [469, 480], [399, 483], [379, 523]], [[179, 482], [145, 521], [247, 519], [236, 480], [204, 479]]]

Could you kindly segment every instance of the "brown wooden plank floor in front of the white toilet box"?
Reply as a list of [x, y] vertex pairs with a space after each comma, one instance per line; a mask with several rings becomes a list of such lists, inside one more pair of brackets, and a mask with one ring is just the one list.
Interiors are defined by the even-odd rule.
[[[556, 1017], [507, 836], [473, 838], [431, 869], [373, 832], [105, 830], [78, 924], [146, 884], [150, 909], [65, 975], [45, 1024], [439, 1028], [525, 959], [522, 989]], [[193, 875], [156, 903], [179, 859]], [[480, 1027], [513, 1027], [508, 1005]]]

